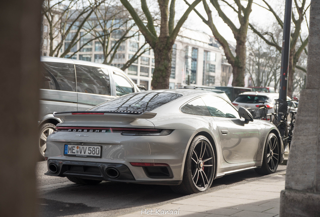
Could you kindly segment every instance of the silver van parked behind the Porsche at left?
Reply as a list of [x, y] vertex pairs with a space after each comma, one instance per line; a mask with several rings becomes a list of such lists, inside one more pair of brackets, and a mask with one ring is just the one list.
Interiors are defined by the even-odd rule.
[[104, 64], [41, 57], [39, 151], [44, 158], [47, 137], [61, 122], [54, 112], [85, 111], [139, 88], [120, 69]]

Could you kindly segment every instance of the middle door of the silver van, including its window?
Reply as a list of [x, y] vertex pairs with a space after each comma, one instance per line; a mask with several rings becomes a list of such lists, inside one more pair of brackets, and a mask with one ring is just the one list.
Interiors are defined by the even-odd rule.
[[115, 98], [111, 95], [109, 71], [105, 68], [75, 65], [77, 87], [77, 111]]

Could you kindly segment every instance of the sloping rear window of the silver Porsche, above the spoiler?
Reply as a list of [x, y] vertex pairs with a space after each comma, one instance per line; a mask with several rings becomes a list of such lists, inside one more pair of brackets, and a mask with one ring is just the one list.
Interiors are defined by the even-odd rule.
[[91, 108], [89, 111], [150, 112], [181, 97], [176, 93], [140, 92], [124, 95]]

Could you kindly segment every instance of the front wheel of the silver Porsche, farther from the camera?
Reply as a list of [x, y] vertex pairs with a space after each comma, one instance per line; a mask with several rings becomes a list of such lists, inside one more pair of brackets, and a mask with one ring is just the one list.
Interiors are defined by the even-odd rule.
[[281, 149], [277, 136], [274, 133], [268, 135], [261, 168], [255, 169], [257, 173], [268, 175], [275, 173], [280, 161]]

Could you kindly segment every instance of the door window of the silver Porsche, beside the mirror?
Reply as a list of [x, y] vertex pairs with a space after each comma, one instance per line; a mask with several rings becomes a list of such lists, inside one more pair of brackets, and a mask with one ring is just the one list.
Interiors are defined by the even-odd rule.
[[238, 112], [224, 99], [217, 96], [204, 96], [208, 110], [213, 117], [240, 118]]

